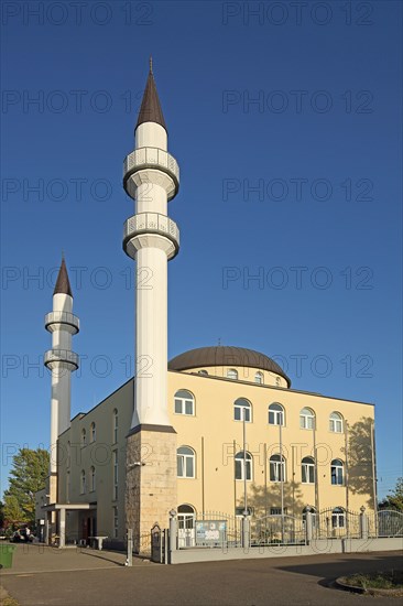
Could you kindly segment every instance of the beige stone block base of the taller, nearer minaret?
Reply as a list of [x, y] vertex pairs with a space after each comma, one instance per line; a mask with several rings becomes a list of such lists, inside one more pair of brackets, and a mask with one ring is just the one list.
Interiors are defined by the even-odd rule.
[[127, 439], [126, 524], [133, 529], [134, 552], [144, 555], [151, 528], [167, 528], [177, 506], [176, 433], [159, 430], [148, 425]]

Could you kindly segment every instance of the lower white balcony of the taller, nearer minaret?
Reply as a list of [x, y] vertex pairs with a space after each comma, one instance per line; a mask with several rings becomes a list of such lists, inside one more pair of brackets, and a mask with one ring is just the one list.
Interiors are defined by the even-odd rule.
[[160, 215], [159, 213], [140, 213], [124, 221], [123, 249], [129, 257], [134, 258], [135, 253], [133, 238], [142, 235], [157, 235], [170, 240], [171, 245], [166, 249], [168, 259], [173, 259], [179, 250], [179, 228], [176, 223], [166, 215]]

